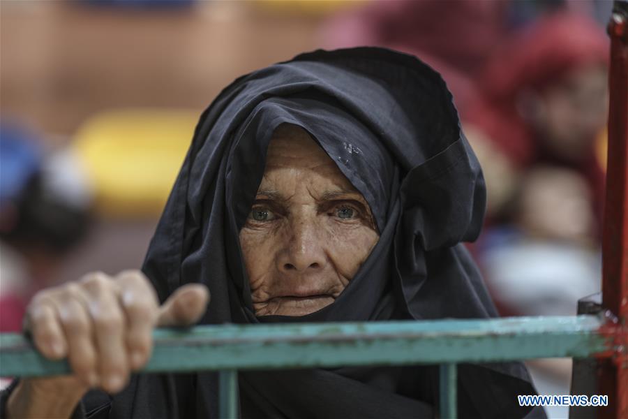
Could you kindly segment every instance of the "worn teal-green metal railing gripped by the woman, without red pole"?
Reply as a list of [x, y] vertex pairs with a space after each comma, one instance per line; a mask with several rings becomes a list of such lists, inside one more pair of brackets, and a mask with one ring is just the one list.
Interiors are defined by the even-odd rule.
[[[143, 372], [220, 372], [220, 417], [238, 411], [239, 369], [440, 364], [440, 416], [456, 417], [456, 365], [532, 358], [589, 358], [618, 348], [601, 316], [489, 320], [211, 325], [154, 332]], [[608, 355], [606, 355], [608, 356]], [[23, 335], [0, 335], [1, 376], [70, 371], [43, 358]]]

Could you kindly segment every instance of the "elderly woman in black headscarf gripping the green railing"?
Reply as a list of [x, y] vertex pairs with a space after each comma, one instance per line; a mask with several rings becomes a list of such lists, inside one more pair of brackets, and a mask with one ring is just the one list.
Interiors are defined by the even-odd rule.
[[[317, 51], [239, 78], [200, 119], [148, 280], [91, 274], [35, 297], [36, 346], [75, 375], [14, 383], [8, 416], [215, 418], [214, 373], [129, 381], [154, 325], [495, 316], [460, 244], [485, 198], [447, 87], [414, 57]], [[241, 416], [432, 418], [437, 368], [243, 371]], [[534, 389], [507, 363], [461, 365], [458, 392], [463, 417], [518, 418]]]

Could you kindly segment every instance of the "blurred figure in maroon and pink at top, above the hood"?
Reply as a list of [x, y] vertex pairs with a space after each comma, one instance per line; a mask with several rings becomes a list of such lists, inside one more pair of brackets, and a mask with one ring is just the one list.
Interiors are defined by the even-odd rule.
[[334, 47], [380, 45], [438, 59], [473, 77], [509, 31], [508, 2], [481, 0], [370, 1], [322, 27]]

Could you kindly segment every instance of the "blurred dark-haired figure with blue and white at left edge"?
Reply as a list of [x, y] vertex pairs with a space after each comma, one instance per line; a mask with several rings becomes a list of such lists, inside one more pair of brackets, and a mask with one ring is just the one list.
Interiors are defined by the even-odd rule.
[[70, 149], [45, 154], [38, 137], [0, 124], [0, 331], [22, 329], [27, 302], [57, 280], [89, 228], [89, 187]]

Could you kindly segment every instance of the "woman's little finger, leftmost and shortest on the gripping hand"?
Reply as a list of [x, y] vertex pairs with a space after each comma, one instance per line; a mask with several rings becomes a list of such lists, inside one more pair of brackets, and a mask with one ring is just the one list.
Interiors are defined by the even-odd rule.
[[33, 300], [24, 319], [24, 330], [31, 332], [33, 343], [42, 355], [51, 360], [66, 357], [68, 353], [66, 335], [52, 302], [43, 298]]

